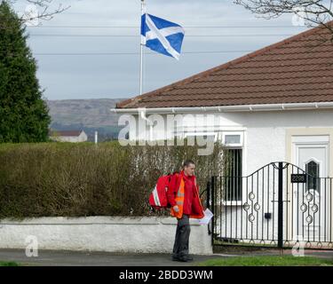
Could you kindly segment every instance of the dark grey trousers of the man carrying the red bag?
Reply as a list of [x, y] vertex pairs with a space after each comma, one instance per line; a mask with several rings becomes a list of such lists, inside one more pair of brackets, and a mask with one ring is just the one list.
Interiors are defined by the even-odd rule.
[[183, 214], [183, 217], [177, 218], [177, 220], [178, 223], [172, 256], [188, 256], [188, 241], [191, 232], [189, 216]]

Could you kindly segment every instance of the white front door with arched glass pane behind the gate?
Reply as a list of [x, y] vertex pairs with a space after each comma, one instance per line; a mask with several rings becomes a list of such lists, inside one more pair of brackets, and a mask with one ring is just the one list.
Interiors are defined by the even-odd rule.
[[[293, 163], [306, 173], [306, 183], [293, 184], [293, 239], [325, 241], [328, 231], [329, 136], [292, 138]], [[303, 173], [303, 172], [302, 172]]]

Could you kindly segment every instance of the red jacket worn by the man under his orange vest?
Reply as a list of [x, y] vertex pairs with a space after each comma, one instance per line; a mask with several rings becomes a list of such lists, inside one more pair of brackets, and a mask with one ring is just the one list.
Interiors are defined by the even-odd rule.
[[170, 179], [169, 189], [168, 189], [168, 202], [173, 207], [176, 205], [175, 196], [177, 194], [180, 178], [184, 179], [185, 182], [185, 195], [184, 195], [184, 205], [183, 205], [183, 214], [187, 215], [201, 215], [202, 214], [202, 205], [199, 197], [199, 185], [194, 186], [195, 176], [188, 177], [184, 174], [182, 170], [178, 178], [176, 175], [173, 175]]

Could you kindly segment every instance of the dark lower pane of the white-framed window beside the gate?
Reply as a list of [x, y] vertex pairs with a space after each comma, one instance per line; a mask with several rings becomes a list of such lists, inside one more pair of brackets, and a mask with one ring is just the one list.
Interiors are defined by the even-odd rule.
[[242, 149], [225, 150], [224, 199], [242, 201]]

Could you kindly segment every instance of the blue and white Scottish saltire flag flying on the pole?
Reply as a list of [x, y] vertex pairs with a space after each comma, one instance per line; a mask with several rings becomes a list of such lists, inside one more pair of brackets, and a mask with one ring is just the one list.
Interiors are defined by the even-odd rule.
[[178, 24], [144, 13], [141, 17], [141, 44], [179, 59], [185, 31]]

